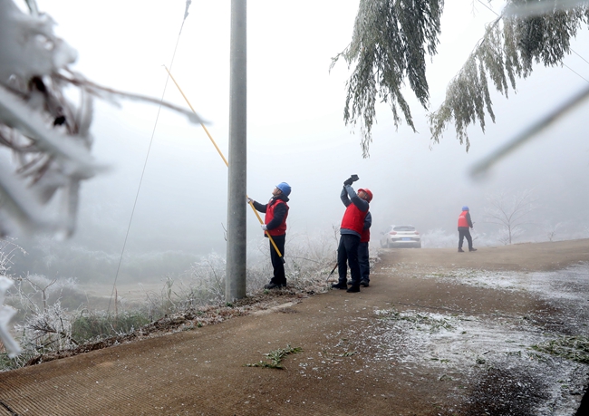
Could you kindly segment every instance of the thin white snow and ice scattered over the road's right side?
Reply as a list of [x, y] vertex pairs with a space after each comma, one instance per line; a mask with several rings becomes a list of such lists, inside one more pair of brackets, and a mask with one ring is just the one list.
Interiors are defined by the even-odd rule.
[[[369, 343], [366, 348], [372, 350], [368, 354], [372, 364], [384, 369], [401, 365], [410, 373], [411, 369], [423, 366], [437, 369], [440, 382], [449, 380], [464, 385], [463, 392], [457, 395], [470, 394], [466, 400], [464, 396], [460, 400], [472, 407], [467, 411], [575, 414], [586, 387], [589, 365], [586, 361], [580, 363], [536, 351], [534, 346], [567, 336], [587, 336], [588, 264], [549, 273], [459, 270], [428, 278], [526, 292], [554, 306], [562, 326], [539, 325], [534, 316], [400, 312], [393, 307], [376, 311], [379, 319], [363, 329], [361, 339]], [[497, 385], [501, 389], [493, 391]], [[523, 412], [518, 412], [517, 406]]]

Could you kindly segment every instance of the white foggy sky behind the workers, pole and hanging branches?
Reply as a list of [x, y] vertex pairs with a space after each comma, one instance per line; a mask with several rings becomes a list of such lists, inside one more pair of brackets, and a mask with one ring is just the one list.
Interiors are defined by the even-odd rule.
[[[38, 3], [57, 22], [57, 34], [77, 49], [77, 71], [102, 85], [156, 98], [167, 85], [164, 99], [187, 107], [162, 67], [171, 63], [184, 1]], [[473, 14], [470, 1], [449, 3], [439, 54], [428, 67], [430, 111], [442, 102], [484, 24], [496, 18], [483, 6]], [[584, 88], [589, 55], [572, 53], [565, 59], [567, 67], [536, 66], [528, 79], [517, 80], [517, 92], [508, 99], [492, 94], [496, 123], [488, 118], [485, 133], [478, 126], [468, 129], [468, 153], [452, 129], [439, 144], [430, 141], [427, 111], [407, 89], [418, 133], [404, 124], [396, 130], [391, 111], [381, 104], [370, 158], [362, 159], [359, 131], [343, 124], [349, 70], [342, 62], [329, 72], [331, 58], [351, 40], [357, 5], [357, 0], [248, 4], [246, 191], [264, 202], [275, 184], [292, 186], [285, 256], [289, 244], [333, 234], [343, 215], [342, 183], [352, 173], [360, 177], [356, 189], [369, 188], [374, 194], [372, 247], [378, 247], [379, 233], [390, 224], [411, 224], [422, 234], [458, 239], [463, 205], [470, 208], [478, 242], [495, 244], [498, 227], [484, 221], [488, 198], [526, 189], [532, 190], [537, 208], [518, 241], [546, 240], [546, 227], [557, 223], [564, 223], [558, 239], [589, 237], [589, 144], [584, 131], [589, 103], [499, 161], [486, 178], [475, 180], [468, 174], [491, 151]], [[492, 4], [496, 11], [501, 5]], [[193, 2], [171, 67], [226, 157], [229, 23], [230, 2]], [[572, 48], [583, 54], [588, 43], [584, 30]], [[141, 258], [185, 253], [169, 267], [173, 271], [198, 256], [225, 253], [227, 167], [198, 124], [156, 105], [96, 102], [92, 132], [95, 158], [111, 169], [83, 184], [77, 232], [61, 247], [112, 258], [121, 256], [123, 247], [129, 255], [145, 256]], [[254, 214], [248, 215], [244, 238], [255, 256], [267, 243]], [[33, 247], [57, 243], [21, 237], [19, 244], [47, 258], [50, 249]], [[20, 267], [34, 268], [33, 257]], [[125, 266], [122, 261], [121, 270]], [[100, 276], [108, 280], [111, 273], [101, 270]]]

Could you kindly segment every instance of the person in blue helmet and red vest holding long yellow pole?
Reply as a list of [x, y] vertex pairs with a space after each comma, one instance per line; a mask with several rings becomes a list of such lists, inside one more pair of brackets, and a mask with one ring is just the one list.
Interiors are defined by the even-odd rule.
[[286, 285], [285, 275], [285, 239], [286, 239], [286, 218], [288, 217], [288, 196], [291, 187], [286, 182], [276, 185], [272, 191], [272, 198], [267, 204], [260, 204], [252, 198], [247, 198], [247, 203], [253, 205], [260, 212], [266, 213], [264, 224], [264, 237], [270, 237], [270, 260], [274, 268], [274, 277], [270, 283], [264, 286], [265, 289], [281, 288]]

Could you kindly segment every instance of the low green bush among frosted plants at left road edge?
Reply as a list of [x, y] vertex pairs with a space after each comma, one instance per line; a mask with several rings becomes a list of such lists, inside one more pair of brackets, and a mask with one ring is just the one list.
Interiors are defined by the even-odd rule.
[[78, 343], [85, 343], [117, 334], [129, 334], [149, 323], [149, 318], [139, 312], [118, 315], [81, 314], [72, 322], [72, 338]]

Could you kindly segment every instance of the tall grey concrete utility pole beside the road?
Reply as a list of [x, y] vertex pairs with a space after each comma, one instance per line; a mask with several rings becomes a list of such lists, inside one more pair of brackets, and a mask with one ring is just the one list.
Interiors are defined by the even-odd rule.
[[231, 0], [229, 74], [229, 177], [225, 300], [246, 296], [247, 168], [246, 0]]

